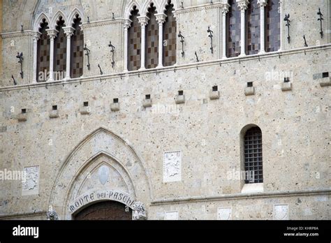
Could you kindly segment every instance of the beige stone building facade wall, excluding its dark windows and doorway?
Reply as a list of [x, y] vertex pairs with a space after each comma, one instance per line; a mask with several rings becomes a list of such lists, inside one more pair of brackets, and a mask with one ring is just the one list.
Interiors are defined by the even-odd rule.
[[[282, 0], [281, 49], [235, 58], [223, 57], [226, 1], [172, 1], [184, 57], [178, 38], [175, 66], [127, 72], [124, 27], [134, 5], [144, 15], [150, 2], [3, 1], [0, 171], [27, 178], [0, 181], [0, 219], [47, 219], [50, 207], [72, 219], [76, 207], [109, 198], [136, 219], [331, 219], [331, 1]], [[60, 13], [80, 13], [91, 69], [84, 56], [81, 78], [36, 83], [36, 23]], [[263, 134], [263, 184], [247, 189], [237, 175], [251, 124]]]

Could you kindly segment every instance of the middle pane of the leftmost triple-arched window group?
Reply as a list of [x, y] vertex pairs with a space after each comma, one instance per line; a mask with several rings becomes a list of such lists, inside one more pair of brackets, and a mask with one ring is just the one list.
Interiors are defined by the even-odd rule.
[[66, 34], [64, 34], [63, 18], [60, 16], [57, 21], [57, 37], [54, 39], [54, 80], [61, 80], [66, 77]]

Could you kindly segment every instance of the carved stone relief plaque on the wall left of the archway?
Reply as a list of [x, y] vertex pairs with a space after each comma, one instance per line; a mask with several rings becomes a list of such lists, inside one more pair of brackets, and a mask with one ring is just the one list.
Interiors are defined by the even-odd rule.
[[39, 193], [39, 166], [24, 168], [25, 178], [22, 180], [22, 196]]

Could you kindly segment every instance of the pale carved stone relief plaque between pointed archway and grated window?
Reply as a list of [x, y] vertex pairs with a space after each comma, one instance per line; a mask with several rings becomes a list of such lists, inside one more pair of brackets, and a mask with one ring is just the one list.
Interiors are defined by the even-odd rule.
[[163, 182], [182, 180], [182, 152], [165, 152], [163, 157]]

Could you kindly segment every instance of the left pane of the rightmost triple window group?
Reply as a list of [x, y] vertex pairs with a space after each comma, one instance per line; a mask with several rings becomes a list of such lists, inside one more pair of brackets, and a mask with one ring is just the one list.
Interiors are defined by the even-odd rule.
[[228, 57], [240, 55], [240, 10], [237, 1], [229, 0], [230, 8], [226, 18]]

